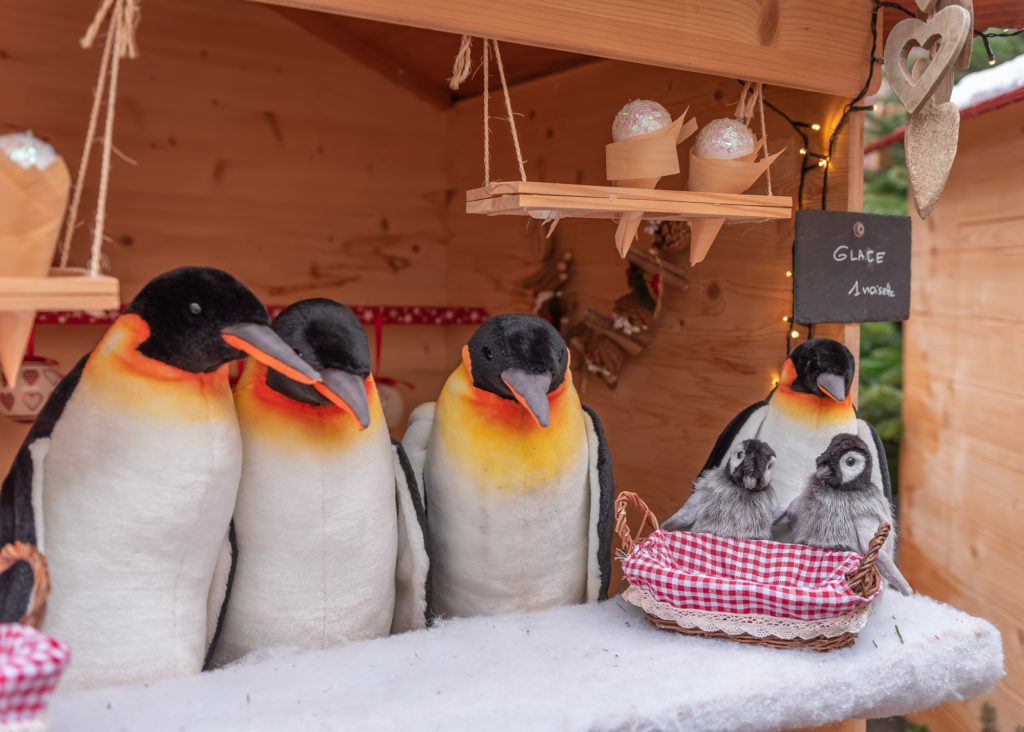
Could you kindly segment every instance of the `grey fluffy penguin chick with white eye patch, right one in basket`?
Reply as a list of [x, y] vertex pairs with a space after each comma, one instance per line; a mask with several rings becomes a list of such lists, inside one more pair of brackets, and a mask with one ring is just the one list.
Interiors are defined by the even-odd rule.
[[785, 511], [797, 544], [821, 549], [839, 549], [858, 554], [867, 545], [880, 523], [891, 525], [879, 552], [877, 566], [882, 577], [903, 595], [913, 594], [893, 559], [896, 524], [892, 505], [882, 489], [871, 483], [871, 454], [862, 439], [852, 434], [833, 437], [818, 456], [817, 470]]

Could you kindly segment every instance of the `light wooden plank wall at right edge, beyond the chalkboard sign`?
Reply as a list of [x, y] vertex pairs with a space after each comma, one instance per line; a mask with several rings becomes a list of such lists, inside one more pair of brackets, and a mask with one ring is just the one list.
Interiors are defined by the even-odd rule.
[[1022, 125], [1020, 104], [967, 121], [942, 200], [913, 221], [901, 564], [919, 591], [998, 626], [1007, 654], [994, 692], [915, 716], [933, 729], [979, 729], [983, 703], [996, 728], [1024, 724], [1024, 150], [999, 142]]

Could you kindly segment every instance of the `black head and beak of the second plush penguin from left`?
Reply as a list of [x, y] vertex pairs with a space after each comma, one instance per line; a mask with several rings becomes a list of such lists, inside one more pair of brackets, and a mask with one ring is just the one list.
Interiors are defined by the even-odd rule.
[[366, 429], [370, 403], [370, 344], [355, 313], [326, 298], [300, 300], [281, 311], [270, 325], [295, 353], [321, 375], [321, 383], [303, 384], [269, 369], [266, 385], [296, 401], [337, 404]]

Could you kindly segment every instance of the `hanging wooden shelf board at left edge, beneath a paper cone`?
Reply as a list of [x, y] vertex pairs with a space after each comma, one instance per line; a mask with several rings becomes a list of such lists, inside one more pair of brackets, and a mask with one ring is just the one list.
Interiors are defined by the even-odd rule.
[[0, 311], [111, 310], [121, 307], [117, 277], [50, 269], [46, 277], [0, 277]]

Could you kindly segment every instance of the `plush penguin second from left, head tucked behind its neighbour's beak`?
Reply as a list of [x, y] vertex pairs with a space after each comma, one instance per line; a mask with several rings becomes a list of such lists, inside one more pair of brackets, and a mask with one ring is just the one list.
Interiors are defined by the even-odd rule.
[[344, 305], [314, 299], [291, 305], [271, 328], [330, 392], [253, 359], [236, 387], [238, 560], [215, 665], [259, 648], [325, 648], [428, 619], [423, 503], [388, 434], [361, 325]]

